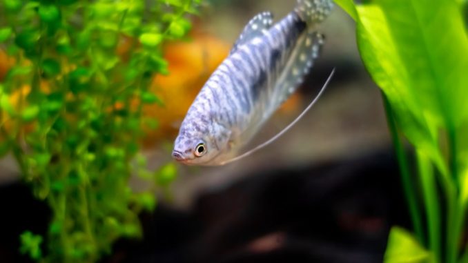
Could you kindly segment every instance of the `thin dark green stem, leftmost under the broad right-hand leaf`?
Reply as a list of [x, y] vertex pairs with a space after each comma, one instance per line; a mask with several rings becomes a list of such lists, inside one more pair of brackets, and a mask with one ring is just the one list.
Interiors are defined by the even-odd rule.
[[393, 117], [393, 110], [390, 106], [388, 98], [382, 92], [382, 99], [384, 101], [384, 108], [385, 113], [387, 115], [387, 124], [389, 126], [391, 140], [393, 142], [393, 147], [395, 148], [396, 156], [398, 159], [398, 166], [400, 168], [400, 175], [403, 184], [404, 196], [408, 201], [409, 206], [409, 213], [411, 215], [411, 221], [413, 222], [414, 231], [416, 233], [416, 238], [420, 244], [424, 244], [425, 236], [422, 232], [422, 223], [421, 223], [421, 215], [420, 211], [418, 210], [418, 203], [416, 202], [416, 192], [413, 191], [415, 187], [411, 183], [411, 173], [409, 172], [409, 166], [407, 162], [406, 153], [404, 153], [404, 149], [402, 143], [400, 141], [400, 137], [398, 136], [398, 130], [396, 128], [396, 121]]

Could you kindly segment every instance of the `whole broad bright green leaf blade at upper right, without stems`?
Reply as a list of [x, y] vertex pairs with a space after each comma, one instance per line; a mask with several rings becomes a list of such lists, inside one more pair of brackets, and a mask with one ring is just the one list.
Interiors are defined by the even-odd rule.
[[357, 6], [358, 46], [399, 127], [442, 173], [438, 128], [468, 116], [468, 39], [452, 0], [376, 0]]

